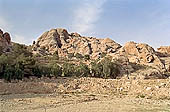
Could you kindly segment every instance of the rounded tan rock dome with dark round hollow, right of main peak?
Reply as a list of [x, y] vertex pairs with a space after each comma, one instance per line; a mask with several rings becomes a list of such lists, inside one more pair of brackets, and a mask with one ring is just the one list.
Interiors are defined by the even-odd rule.
[[122, 47], [120, 54], [128, 57], [129, 62], [153, 66], [164, 70], [164, 63], [156, 55], [155, 50], [147, 44], [128, 42]]

